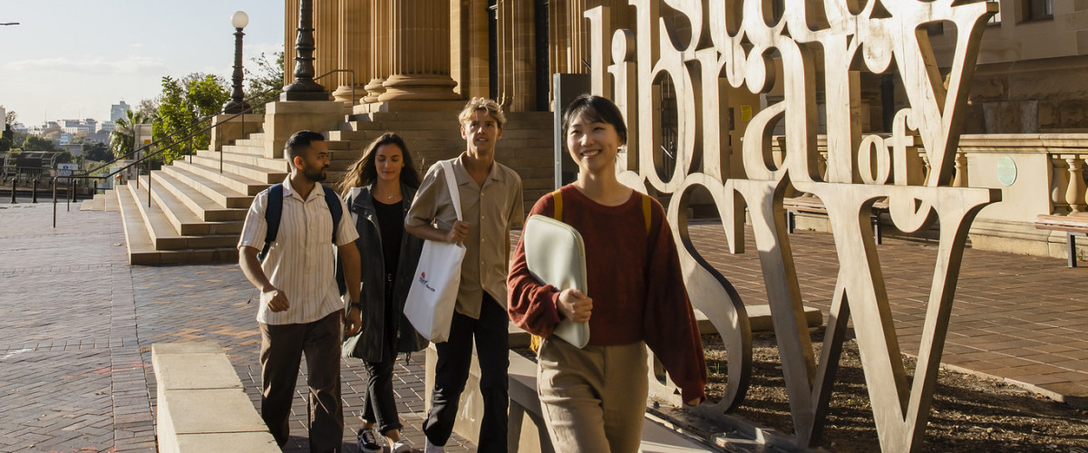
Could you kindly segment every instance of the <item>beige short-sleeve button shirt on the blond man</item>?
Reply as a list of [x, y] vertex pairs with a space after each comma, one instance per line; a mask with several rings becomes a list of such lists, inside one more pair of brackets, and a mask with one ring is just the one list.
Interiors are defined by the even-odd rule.
[[[453, 163], [461, 199], [461, 214], [469, 223], [455, 310], [479, 318], [483, 291], [506, 307], [506, 275], [510, 268], [507, 253], [509, 231], [524, 222], [521, 177], [506, 165], [495, 162], [481, 187], [469, 175], [460, 156], [449, 162]], [[453, 199], [446, 189], [446, 175], [442, 165], [435, 163], [426, 171], [405, 224], [431, 224], [448, 230], [456, 219]]]

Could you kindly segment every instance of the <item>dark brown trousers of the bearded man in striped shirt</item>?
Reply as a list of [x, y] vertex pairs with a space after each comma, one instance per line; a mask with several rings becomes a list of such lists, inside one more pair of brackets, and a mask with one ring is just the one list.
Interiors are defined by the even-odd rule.
[[339, 452], [344, 439], [341, 407], [341, 312], [312, 323], [261, 326], [261, 418], [280, 446], [290, 436], [288, 421], [306, 353], [306, 383], [310, 387], [307, 427], [310, 451]]

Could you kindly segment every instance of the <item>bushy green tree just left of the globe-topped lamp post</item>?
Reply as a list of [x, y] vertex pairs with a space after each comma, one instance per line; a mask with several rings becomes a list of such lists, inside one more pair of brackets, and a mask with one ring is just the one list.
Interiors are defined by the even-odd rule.
[[222, 111], [230, 98], [226, 80], [214, 75], [193, 73], [180, 80], [162, 77], [159, 121], [154, 123], [153, 135], [156, 141], [165, 146], [164, 162], [169, 164], [195, 149], [207, 149], [211, 141], [207, 131], [178, 140], [210, 126], [210, 118]]

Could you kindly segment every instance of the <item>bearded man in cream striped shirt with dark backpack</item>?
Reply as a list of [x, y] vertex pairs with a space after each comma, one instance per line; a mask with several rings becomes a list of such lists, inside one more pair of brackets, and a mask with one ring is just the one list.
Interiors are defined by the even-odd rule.
[[[290, 175], [283, 181], [283, 207], [275, 240], [263, 248], [270, 190], [257, 194], [238, 241], [238, 265], [261, 291], [257, 322], [261, 328], [261, 418], [276, 442], [288, 439], [287, 425], [301, 354], [310, 387], [311, 452], [339, 452], [344, 435], [341, 408], [341, 336], [361, 324], [359, 237], [351, 219], [341, 215], [333, 238], [333, 216], [320, 181], [329, 171], [329, 146], [321, 134], [302, 130], [287, 139]], [[342, 213], [347, 206], [338, 197]], [[330, 243], [332, 240], [333, 243]], [[333, 246], [347, 280], [347, 314], [336, 285]], [[347, 323], [345, 329], [343, 323]]]

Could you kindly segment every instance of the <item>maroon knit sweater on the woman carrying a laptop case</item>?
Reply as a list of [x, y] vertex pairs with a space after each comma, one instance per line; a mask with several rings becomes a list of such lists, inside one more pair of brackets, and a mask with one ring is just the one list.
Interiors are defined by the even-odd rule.
[[[660, 203], [651, 203], [647, 235], [640, 193], [618, 206], [605, 206], [573, 186], [560, 190], [562, 222], [574, 227], [585, 242], [586, 295], [593, 299], [590, 344], [645, 341], [680, 387], [683, 401], [704, 399], [703, 342]], [[548, 193], [529, 215], [553, 217], [554, 213], [555, 201]], [[559, 291], [541, 285], [529, 273], [521, 241], [506, 285], [514, 324], [541, 337], [551, 336], [560, 319]]]

